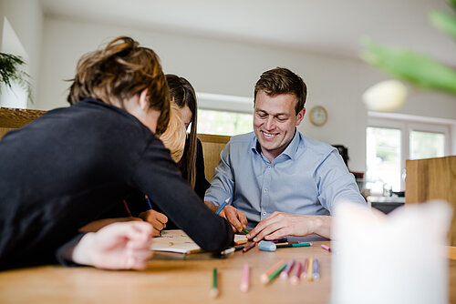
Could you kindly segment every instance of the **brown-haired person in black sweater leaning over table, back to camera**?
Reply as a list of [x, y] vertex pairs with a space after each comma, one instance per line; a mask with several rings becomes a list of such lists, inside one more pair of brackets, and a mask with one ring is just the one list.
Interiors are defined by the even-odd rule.
[[0, 269], [57, 261], [144, 269], [149, 223], [78, 233], [131, 191], [149, 196], [201, 248], [232, 243], [230, 224], [202, 204], [157, 137], [170, 93], [150, 48], [119, 37], [82, 56], [67, 100], [0, 141]]

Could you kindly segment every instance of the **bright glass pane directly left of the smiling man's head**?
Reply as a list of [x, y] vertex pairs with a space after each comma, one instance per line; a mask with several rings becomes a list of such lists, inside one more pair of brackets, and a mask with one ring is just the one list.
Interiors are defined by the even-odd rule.
[[252, 114], [198, 109], [198, 133], [233, 136], [252, 132]]

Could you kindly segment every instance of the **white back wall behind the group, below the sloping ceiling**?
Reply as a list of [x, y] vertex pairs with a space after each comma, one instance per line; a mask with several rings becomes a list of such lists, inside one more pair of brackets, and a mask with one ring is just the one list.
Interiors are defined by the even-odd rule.
[[[300, 130], [347, 146], [350, 169], [365, 171], [367, 111], [360, 96], [387, 76], [355, 59], [46, 17], [36, 107], [66, 106], [68, 83], [63, 79], [74, 75], [78, 58], [118, 35], [131, 35], [154, 49], [165, 73], [186, 77], [199, 92], [252, 97], [262, 72], [275, 66], [292, 69], [308, 86], [307, 109], [325, 106], [329, 116], [323, 127], [314, 127], [305, 118]], [[456, 98], [421, 94], [414, 92], [400, 112], [456, 118]]]

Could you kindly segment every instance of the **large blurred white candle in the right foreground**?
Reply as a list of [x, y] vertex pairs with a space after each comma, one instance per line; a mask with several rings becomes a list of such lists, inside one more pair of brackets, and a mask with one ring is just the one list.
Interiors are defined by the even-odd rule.
[[337, 205], [331, 303], [448, 303], [450, 205], [406, 205], [388, 216], [376, 211]]

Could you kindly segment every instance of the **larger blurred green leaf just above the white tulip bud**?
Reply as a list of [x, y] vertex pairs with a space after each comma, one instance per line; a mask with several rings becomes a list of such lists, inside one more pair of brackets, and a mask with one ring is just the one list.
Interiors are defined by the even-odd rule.
[[456, 95], [456, 70], [407, 49], [380, 46], [372, 40], [363, 45], [361, 57], [369, 64], [417, 86]]

